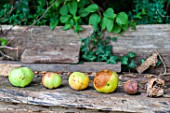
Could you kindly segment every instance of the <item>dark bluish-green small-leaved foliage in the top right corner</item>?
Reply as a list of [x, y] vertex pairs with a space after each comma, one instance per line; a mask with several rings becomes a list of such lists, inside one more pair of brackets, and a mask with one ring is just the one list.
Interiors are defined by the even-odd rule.
[[131, 20], [137, 24], [160, 24], [167, 23], [166, 17], [167, 0], [133, 0], [134, 9], [129, 12]]

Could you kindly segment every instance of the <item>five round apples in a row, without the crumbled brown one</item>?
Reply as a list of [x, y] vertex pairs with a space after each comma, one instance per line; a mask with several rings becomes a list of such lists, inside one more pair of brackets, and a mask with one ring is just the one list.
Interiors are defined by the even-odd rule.
[[[9, 82], [16, 87], [28, 86], [31, 84], [33, 78], [34, 73], [28, 67], [15, 68], [10, 71], [8, 76]], [[68, 82], [72, 89], [80, 91], [88, 87], [90, 80], [85, 73], [73, 72], [69, 76]], [[111, 93], [116, 90], [118, 82], [119, 77], [116, 72], [111, 70], [101, 70], [96, 73], [93, 85], [98, 92]], [[62, 84], [62, 78], [57, 73], [47, 72], [42, 77], [42, 84], [48, 89], [57, 88]], [[127, 81], [124, 84], [124, 90], [128, 94], [136, 94], [138, 91], [137, 82], [132, 80]]]

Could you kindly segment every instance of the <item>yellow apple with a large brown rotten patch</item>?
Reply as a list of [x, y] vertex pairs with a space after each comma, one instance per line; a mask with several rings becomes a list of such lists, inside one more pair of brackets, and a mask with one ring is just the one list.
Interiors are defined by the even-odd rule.
[[94, 78], [94, 88], [101, 93], [112, 93], [116, 90], [119, 78], [116, 72], [111, 70], [101, 70]]

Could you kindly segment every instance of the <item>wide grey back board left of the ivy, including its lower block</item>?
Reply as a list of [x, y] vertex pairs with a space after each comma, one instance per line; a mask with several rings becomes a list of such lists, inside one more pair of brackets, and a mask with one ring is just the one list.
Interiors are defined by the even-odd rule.
[[[1, 27], [3, 33], [6, 33], [5, 37], [7, 39], [15, 39], [10, 45], [18, 48], [18, 51], [4, 49], [7, 55], [15, 59], [20, 59], [25, 49], [34, 49], [34, 52], [25, 51], [25, 54], [28, 56], [24, 54], [22, 61], [27, 63], [37, 62], [37, 60], [42, 63], [49, 61], [53, 63], [77, 63], [80, 51], [79, 37], [87, 37], [93, 32], [91, 26], [82, 26], [84, 30], [79, 34], [74, 33], [73, 30], [63, 31], [62, 26], [56, 27], [53, 31], [47, 26], [34, 26], [28, 30], [26, 30], [27, 27], [15, 26], [8, 32], [7, 30], [12, 26], [2, 25]], [[49, 56], [49, 60], [39, 57], [44, 55], [45, 52], [40, 52], [44, 50], [47, 50], [48, 55], [46, 55]], [[33, 59], [34, 57], [32, 56], [35, 56], [36, 59]]]

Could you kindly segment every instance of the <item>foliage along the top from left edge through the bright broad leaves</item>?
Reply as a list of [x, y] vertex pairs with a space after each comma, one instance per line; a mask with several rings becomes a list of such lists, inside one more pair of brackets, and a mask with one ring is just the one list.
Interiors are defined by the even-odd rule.
[[[49, 6], [52, 8], [48, 9]], [[43, 15], [43, 18], [35, 25], [49, 25], [52, 30], [62, 25], [63, 30], [73, 28], [75, 32], [79, 32], [83, 30], [80, 25], [90, 24], [95, 31], [101, 27], [102, 30], [119, 33], [122, 30], [125, 31], [124, 28], [128, 26], [128, 17], [125, 12], [116, 15], [112, 8], [102, 12], [97, 4], [91, 4], [89, 0], [79, 2], [49, 0], [48, 3], [46, 0], [16, 0], [14, 5], [4, 4], [0, 8], [2, 9], [0, 18], [3, 18], [0, 24], [31, 25]], [[47, 13], [44, 15], [45, 11]]]

